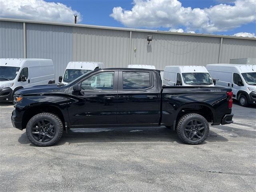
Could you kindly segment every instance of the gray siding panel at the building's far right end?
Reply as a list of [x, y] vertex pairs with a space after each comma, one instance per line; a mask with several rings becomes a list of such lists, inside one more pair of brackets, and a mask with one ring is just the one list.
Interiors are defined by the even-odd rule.
[[223, 38], [220, 63], [236, 58], [256, 58], [256, 41]]

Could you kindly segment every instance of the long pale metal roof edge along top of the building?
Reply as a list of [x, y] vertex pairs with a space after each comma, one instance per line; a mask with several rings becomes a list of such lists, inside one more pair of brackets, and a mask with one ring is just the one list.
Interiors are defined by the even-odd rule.
[[86, 28], [100, 28], [100, 29], [111, 29], [111, 30], [122, 30], [122, 31], [136, 31], [136, 32], [150, 32], [150, 33], [161, 33], [161, 34], [175, 34], [175, 35], [190, 35], [190, 36], [205, 36], [205, 37], [222, 37], [222, 38], [235, 38], [235, 39], [248, 39], [256, 40], [252, 37], [241, 37], [241, 36], [227, 36], [227, 35], [215, 35], [215, 34], [200, 34], [200, 33], [180, 33], [180, 32], [169, 32], [160, 30], [146, 30], [136, 28], [124, 28], [124, 27], [109, 27], [109, 26], [98, 26], [98, 25], [87, 25], [87, 24], [72, 24], [72, 23], [57, 23], [57, 22], [41, 22], [34, 20], [24, 19], [12, 19], [12, 18], [0, 18], [0, 21], [12, 21], [12, 22], [25, 22], [25, 23], [38, 23], [38, 24], [50, 24], [50, 25], [64, 25], [64, 26], [76, 26]]

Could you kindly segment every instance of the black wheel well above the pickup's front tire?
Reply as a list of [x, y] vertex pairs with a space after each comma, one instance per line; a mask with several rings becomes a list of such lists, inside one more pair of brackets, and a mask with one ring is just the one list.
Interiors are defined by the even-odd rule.
[[64, 116], [60, 109], [56, 106], [34, 106], [26, 110], [26, 112], [23, 115], [22, 118], [22, 129], [25, 129], [27, 126], [28, 121], [35, 116], [36, 114], [42, 113], [42, 112], [49, 112], [57, 115], [60, 120], [63, 123], [63, 126], [65, 124]]

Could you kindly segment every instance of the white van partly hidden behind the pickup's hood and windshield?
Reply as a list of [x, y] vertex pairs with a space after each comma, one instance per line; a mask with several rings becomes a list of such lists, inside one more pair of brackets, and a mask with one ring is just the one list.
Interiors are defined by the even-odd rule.
[[59, 82], [68, 84], [95, 68], [104, 68], [104, 64], [101, 62], [69, 62], [64, 72], [64, 77], [59, 76]]

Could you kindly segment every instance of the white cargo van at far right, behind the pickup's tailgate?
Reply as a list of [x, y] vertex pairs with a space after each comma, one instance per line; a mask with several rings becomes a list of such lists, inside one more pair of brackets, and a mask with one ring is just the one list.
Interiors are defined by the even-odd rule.
[[206, 66], [217, 85], [232, 88], [241, 106], [256, 104], [256, 65], [209, 64]]

